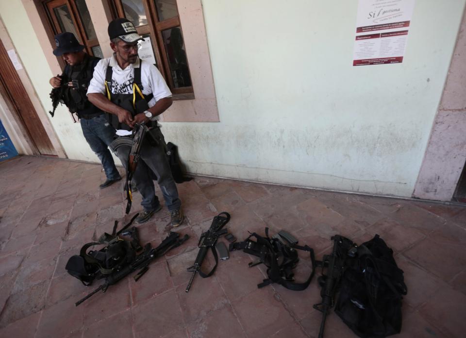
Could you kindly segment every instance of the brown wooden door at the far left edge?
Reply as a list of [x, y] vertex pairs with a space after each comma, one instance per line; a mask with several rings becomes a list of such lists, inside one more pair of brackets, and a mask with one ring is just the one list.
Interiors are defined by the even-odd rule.
[[[41, 120], [37, 116], [33, 103], [24, 88], [15, 67], [11, 63], [10, 58], [0, 41], [0, 81], [1, 94], [5, 101], [10, 101], [14, 108], [13, 114], [17, 114], [19, 120], [24, 125], [27, 133], [30, 136], [30, 141], [33, 142], [35, 148], [41, 155], [57, 156], [57, 152], [50, 142], [49, 135], [44, 129]], [[48, 79], [44, 79], [44, 83], [48, 84]], [[50, 103], [51, 104], [51, 103]]]

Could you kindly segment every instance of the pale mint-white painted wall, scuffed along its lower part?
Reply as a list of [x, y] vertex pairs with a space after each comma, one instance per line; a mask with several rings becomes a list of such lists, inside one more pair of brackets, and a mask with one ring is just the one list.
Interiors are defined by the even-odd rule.
[[[202, 0], [220, 122], [162, 130], [194, 173], [411, 196], [465, 1], [417, 0], [403, 63], [352, 67], [357, 0]], [[48, 109], [16, 2], [0, 15]], [[52, 124], [69, 158], [97, 160], [65, 109]]]

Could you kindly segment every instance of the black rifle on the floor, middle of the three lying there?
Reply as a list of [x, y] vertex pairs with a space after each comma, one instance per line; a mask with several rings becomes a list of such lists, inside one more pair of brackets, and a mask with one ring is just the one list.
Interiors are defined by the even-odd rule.
[[[225, 216], [221, 216], [221, 215]], [[194, 277], [196, 276], [196, 273], [199, 272], [200, 276], [202, 278], [207, 278], [212, 276], [214, 273], [217, 263], [218, 263], [218, 255], [215, 249], [215, 244], [217, 242], [218, 237], [221, 235], [225, 235], [227, 233], [227, 229], [222, 229], [225, 224], [228, 223], [230, 220], [230, 214], [228, 212], [221, 212], [218, 214], [216, 217], [214, 217], [214, 220], [212, 220], [212, 224], [206, 232], [202, 233], [200, 235], [198, 247], [199, 253], [196, 257], [196, 261], [194, 262], [194, 265], [187, 268], [186, 271], [193, 272], [193, 275], [191, 276], [191, 279], [189, 280], [188, 286], [186, 287], [186, 292], [189, 292], [189, 289], [191, 288], [191, 285], [193, 284]], [[215, 258], [215, 266], [212, 268], [212, 270], [209, 273], [204, 273], [200, 270], [202, 266], [202, 262], [205, 258], [205, 255], [209, 251], [209, 248], [212, 250], [212, 254], [214, 255]]]

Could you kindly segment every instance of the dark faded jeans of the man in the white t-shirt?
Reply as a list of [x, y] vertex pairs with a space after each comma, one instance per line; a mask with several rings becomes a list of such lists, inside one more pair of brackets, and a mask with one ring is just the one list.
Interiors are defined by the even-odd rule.
[[[133, 182], [136, 184], [137, 190], [142, 195], [141, 205], [144, 210], [152, 211], [156, 209], [160, 202], [155, 195], [155, 186], [150, 176], [150, 170], [157, 175], [157, 183], [162, 190], [166, 207], [169, 211], [178, 210], [181, 207], [181, 201], [178, 197], [178, 189], [175, 180], [171, 175], [170, 165], [165, 153], [165, 140], [160, 128], [154, 128], [150, 133], [157, 140], [157, 145], [151, 145], [146, 136], [137, 162], [136, 171], [133, 174]], [[128, 157], [131, 151], [129, 146], [121, 146], [115, 152], [116, 156], [121, 160], [125, 168], [128, 167]]]

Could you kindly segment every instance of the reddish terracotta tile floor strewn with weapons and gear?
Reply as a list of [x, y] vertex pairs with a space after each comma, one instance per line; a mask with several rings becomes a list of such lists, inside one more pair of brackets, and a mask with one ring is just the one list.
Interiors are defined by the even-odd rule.
[[[67, 274], [68, 257], [141, 210], [136, 194], [125, 216], [122, 183], [100, 190], [103, 180], [96, 164], [26, 156], [0, 164], [0, 337], [317, 337], [316, 279], [301, 292], [258, 289], [264, 268], [248, 268], [241, 252], [184, 292], [197, 238], [221, 211], [240, 239], [285, 229], [317, 258], [331, 250], [333, 234], [358, 243], [380, 234], [408, 286], [401, 336], [464, 337], [466, 208], [202, 177], [179, 185], [186, 221], [177, 231], [191, 239], [139, 282], [127, 278], [75, 307], [93, 287]], [[168, 223], [164, 208], [138, 226], [142, 241], [160, 243]], [[309, 267], [303, 258], [298, 279]], [[325, 336], [354, 335], [331, 313]]]

